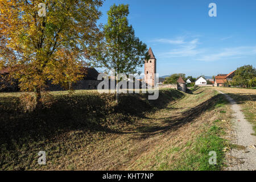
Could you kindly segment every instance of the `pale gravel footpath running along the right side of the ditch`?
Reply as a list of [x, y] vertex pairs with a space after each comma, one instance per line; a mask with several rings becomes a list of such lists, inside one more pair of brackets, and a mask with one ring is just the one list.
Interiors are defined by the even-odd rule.
[[[224, 94], [223, 92], [218, 92]], [[246, 121], [245, 116], [241, 111], [241, 107], [238, 106], [236, 101], [230, 96], [224, 94], [228, 98], [231, 108], [234, 111], [233, 119], [233, 142], [240, 149], [232, 148], [229, 152], [228, 162], [229, 166], [226, 170], [230, 171], [246, 171], [246, 170], [256, 170], [256, 137], [251, 135], [254, 133], [251, 124]]]

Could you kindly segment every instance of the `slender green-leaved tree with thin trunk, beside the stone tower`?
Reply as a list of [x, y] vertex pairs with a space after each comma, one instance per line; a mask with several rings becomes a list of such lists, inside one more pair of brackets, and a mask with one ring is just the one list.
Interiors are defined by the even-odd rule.
[[[129, 5], [113, 5], [108, 11], [108, 23], [104, 26], [105, 40], [98, 54], [98, 66], [125, 75], [137, 73], [138, 67], [142, 67], [144, 60], [148, 60], [146, 44], [135, 36], [134, 29], [129, 25], [127, 16]], [[117, 78], [117, 102], [118, 102]]]

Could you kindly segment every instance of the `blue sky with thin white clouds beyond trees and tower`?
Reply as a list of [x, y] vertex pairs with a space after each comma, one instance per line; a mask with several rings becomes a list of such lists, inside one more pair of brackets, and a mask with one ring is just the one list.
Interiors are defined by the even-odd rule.
[[[217, 17], [208, 15], [212, 2]], [[213, 76], [245, 64], [255, 67], [255, 0], [106, 0], [100, 23], [107, 22], [113, 3], [130, 5], [129, 23], [152, 48], [159, 76]]]

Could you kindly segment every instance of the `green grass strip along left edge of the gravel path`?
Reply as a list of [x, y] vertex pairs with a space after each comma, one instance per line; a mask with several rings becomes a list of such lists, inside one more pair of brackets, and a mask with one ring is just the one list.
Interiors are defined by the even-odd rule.
[[[227, 101], [224, 97], [220, 96], [216, 105], [213, 108], [223, 109], [228, 107]], [[220, 111], [220, 113], [226, 113]], [[218, 115], [219, 118], [224, 118], [223, 115]], [[226, 117], [226, 116], [225, 116]], [[176, 163], [172, 170], [179, 171], [219, 171], [225, 166], [225, 152], [224, 148], [227, 146], [224, 136], [226, 123], [221, 122], [221, 119], [216, 119], [210, 127], [204, 125], [204, 132], [196, 137], [195, 142], [191, 142], [191, 147], [183, 151], [179, 163]], [[217, 164], [209, 164], [209, 152], [214, 151], [217, 154]]]

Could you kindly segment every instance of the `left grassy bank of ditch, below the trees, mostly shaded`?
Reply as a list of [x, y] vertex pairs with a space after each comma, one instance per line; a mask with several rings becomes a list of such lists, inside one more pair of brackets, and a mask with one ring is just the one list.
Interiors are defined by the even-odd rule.
[[[78, 92], [54, 94], [51, 107], [24, 113], [16, 96], [0, 95], [0, 169], [58, 169], [74, 151], [120, 133], [146, 113], [165, 107], [183, 93], [160, 90], [158, 100], [148, 94]], [[135, 127], [135, 126], [134, 126]], [[49, 166], [39, 166], [38, 152], [46, 151]], [[93, 152], [93, 151], [90, 151]], [[75, 169], [71, 164], [66, 169]]]

